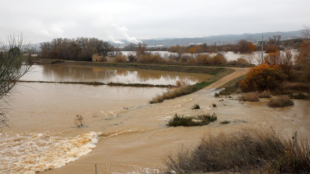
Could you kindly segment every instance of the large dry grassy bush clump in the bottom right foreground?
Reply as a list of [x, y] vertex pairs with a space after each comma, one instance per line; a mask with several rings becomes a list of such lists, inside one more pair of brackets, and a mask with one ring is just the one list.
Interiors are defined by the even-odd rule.
[[307, 140], [286, 139], [272, 129], [210, 133], [193, 148], [166, 156], [165, 173], [309, 173]]

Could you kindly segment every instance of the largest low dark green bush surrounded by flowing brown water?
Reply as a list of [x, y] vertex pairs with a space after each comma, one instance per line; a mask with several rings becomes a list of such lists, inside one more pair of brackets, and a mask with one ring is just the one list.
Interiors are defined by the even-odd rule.
[[171, 120], [169, 120], [167, 126], [203, 126], [210, 122], [217, 120], [216, 114], [202, 114], [193, 117], [184, 117], [175, 114]]

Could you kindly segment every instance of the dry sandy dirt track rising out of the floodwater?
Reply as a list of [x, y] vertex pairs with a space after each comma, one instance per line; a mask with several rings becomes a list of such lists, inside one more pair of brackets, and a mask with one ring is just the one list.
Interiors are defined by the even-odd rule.
[[224, 76], [220, 80], [217, 80], [216, 82], [212, 83], [211, 85], [206, 86], [204, 89], [212, 89], [212, 88], [218, 88], [227, 82], [229, 82], [232, 79], [235, 79], [237, 77], [245, 75], [250, 68], [238, 68], [238, 67], [226, 67], [230, 69], [234, 69], [235, 72], [228, 74], [227, 76]]

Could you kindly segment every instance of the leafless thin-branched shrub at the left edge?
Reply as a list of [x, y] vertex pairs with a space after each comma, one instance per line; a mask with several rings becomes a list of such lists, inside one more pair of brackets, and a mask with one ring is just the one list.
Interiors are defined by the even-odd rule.
[[30, 42], [23, 42], [20, 37], [7, 36], [6, 41], [0, 39], [0, 128], [9, 127], [7, 118], [10, 102], [18, 93], [16, 85], [18, 79], [33, 69], [32, 49]]

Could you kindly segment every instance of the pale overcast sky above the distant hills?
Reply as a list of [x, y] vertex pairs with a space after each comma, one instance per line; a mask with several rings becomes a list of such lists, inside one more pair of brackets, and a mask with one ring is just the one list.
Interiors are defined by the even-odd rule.
[[0, 37], [23, 32], [32, 43], [81, 36], [203, 37], [292, 31], [310, 25], [310, 0], [1, 0], [0, 4]]

